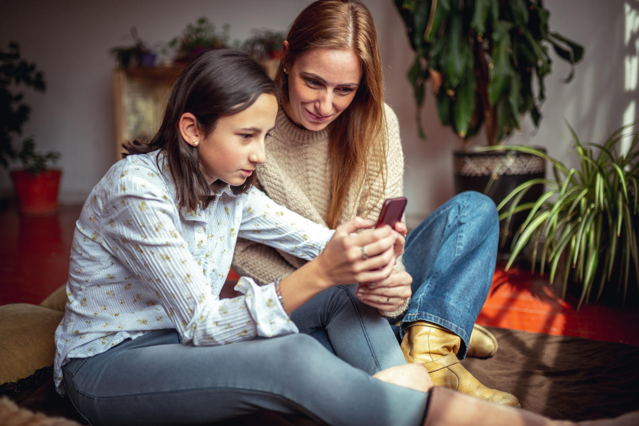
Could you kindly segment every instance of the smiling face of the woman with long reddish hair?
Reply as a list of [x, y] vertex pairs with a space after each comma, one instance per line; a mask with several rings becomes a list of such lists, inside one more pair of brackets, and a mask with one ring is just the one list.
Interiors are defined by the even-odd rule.
[[[288, 42], [284, 42], [288, 49]], [[288, 66], [287, 66], [288, 68]], [[286, 115], [298, 126], [319, 131], [353, 102], [363, 71], [353, 50], [318, 47], [298, 57], [288, 70]]]

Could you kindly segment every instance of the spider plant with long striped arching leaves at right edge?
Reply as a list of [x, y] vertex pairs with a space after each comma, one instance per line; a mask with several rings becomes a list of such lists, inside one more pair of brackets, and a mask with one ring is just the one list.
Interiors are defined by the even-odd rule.
[[[507, 221], [506, 228], [512, 215], [528, 211], [512, 240], [506, 269], [532, 242], [532, 270], [541, 255], [540, 273], [548, 268], [551, 283], [562, 275], [563, 299], [569, 283], [581, 287], [577, 310], [593, 298], [598, 301], [606, 284], [617, 285], [615, 294], [623, 305], [628, 283], [639, 282], [639, 132], [624, 133], [629, 126], [622, 126], [603, 144], [596, 144], [580, 142], [569, 125], [580, 169], [569, 169], [539, 149], [501, 147], [546, 158], [553, 165], [553, 178], [530, 179], [497, 206], [500, 220]], [[626, 137], [631, 141], [624, 153], [620, 142]], [[478, 150], [492, 149], [497, 147]], [[520, 202], [535, 185], [545, 185], [544, 194], [534, 202]]]

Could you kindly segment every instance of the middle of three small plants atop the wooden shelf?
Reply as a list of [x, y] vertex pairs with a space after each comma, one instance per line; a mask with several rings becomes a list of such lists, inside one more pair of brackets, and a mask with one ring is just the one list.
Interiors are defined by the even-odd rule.
[[180, 37], [174, 37], [168, 43], [169, 49], [176, 49], [178, 62], [189, 62], [205, 50], [226, 49], [229, 46], [228, 24], [222, 26], [218, 32], [215, 25], [206, 17], [196, 20], [195, 24], [188, 24]]

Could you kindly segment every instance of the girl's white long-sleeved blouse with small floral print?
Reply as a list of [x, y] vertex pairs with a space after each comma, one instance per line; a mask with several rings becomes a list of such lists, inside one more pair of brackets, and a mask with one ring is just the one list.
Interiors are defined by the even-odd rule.
[[334, 231], [252, 188], [230, 186], [206, 209], [178, 211], [157, 151], [130, 155], [93, 188], [73, 234], [65, 316], [56, 330], [54, 379], [71, 358], [102, 353], [127, 338], [174, 328], [184, 344], [222, 345], [298, 330], [274, 284], [241, 277], [243, 296], [219, 299], [238, 236], [311, 259]]

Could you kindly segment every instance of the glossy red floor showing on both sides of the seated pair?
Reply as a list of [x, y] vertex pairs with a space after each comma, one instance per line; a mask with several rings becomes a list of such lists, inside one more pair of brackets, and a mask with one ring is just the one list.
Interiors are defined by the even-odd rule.
[[[20, 217], [14, 206], [0, 211], [0, 304], [40, 303], [66, 281], [80, 209], [60, 206], [49, 217]], [[575, 312], [573, 306], [544, 277], [518, 268], [506, 272], [500, 264], [477, 323], [639, 346], [639, 310], [586, 305]]]

